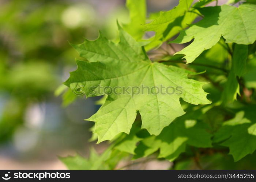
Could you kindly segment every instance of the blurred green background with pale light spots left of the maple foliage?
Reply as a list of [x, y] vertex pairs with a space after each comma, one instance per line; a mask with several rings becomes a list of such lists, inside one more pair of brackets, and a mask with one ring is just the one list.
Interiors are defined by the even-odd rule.
[[[147, 1], [148, 12], [177, 4]], [[115, 39], [116, 19], [129, 21], [125, 0], [0, 0], [0, 169], [66, 169], [58, 156], [89, 153], [93, 123], [83, 119], [99, 98], [62, 86], [78, 57], [69, 42], [95, 39], [98, 29]]]

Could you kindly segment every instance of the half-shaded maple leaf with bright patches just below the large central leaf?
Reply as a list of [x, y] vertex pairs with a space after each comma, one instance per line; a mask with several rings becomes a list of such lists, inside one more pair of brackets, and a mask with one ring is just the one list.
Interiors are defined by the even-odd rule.
[[173, 161], [185, 151], [186, 145], [211, 147], [211, 134], [196, 120], [178, 118], [163, 128], [160, 135], [144, 139], [135, 149], [134, 158], [146, 157], [160, 149], [159, 158]]

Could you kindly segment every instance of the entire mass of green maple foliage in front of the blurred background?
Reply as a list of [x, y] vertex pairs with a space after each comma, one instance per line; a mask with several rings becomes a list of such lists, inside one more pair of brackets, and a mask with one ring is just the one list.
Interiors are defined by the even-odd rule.
[[[112, 151], [125, 160], [165, 159], [172, 169], [256, 169], [248, 162], [256, 150], [256, 7], [203, 7], [210, 2], [180, 0], [144, 24], [145, 1], [128, 0], [131, 21], [118, 25], [118, 43], [100, 33], [96, 40], [72, 44], [83, 60], [64, 84], [87, 97], [105, 95], [97, 113], [86, 119], [95, 122], [91, 141], [112, 143], [102, 156]], [[202, 20], [192, 24], [199, 16]], [[143, 41], [144, 31], [156, 34]], [[176, 51], [174, 43], [191, 40]], [[170, 47], [162, 45], [166, 41]], [[154, 60], [152, 48], [161, 54]], [[178, 86], [182, 92], [142, 94], [142, 85]], [[106, 93], [104, 87], [125, 87], [130, 94]], [[65, 163], [80, 169], [70, 167], [74, 160]]]

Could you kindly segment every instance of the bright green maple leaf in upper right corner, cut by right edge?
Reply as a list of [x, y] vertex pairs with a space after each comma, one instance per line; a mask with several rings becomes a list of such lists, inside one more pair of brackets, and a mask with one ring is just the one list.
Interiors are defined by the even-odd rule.
[[198, 8], [203, 20], [181, 31], [172, 43], [193, 42], [176, 54], [185, 54], [187, 63], [193, 62], [204, 50], [214, 46], [221, 36], [226, 43], [252, 44], [256, 40], [256, 5], [241, 4]]

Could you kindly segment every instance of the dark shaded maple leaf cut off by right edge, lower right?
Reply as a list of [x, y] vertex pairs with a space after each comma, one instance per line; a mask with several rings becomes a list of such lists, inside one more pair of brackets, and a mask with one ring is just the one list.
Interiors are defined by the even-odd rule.
[[223, 123], [214, 135], [213, 142], [229, 147], [234, 161], [239, 161], [256, 150], [255, 106], [237, 112], [236, 116]]

